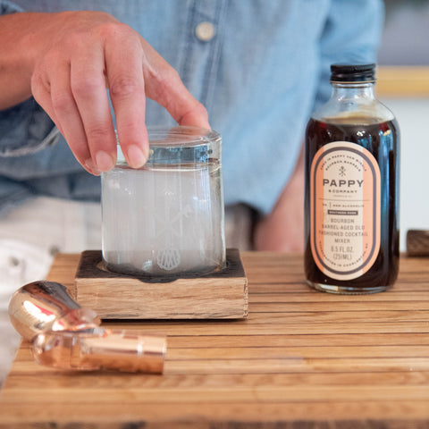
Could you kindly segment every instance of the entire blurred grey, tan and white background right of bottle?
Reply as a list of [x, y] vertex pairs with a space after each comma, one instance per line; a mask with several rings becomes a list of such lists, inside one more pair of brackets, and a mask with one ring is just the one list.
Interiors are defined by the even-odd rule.
[[401, 131], [400, 249], [409, 229], [429, 230], [429, 1], [385, 0], [378, 97]]

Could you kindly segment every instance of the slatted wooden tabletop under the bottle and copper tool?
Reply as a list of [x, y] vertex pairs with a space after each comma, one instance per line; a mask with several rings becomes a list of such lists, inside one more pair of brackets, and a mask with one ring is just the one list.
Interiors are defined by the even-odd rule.
[[[79, 256], [49, 279], [70, 287]], [[248, 320], [108, 323], [168, 336], [164, 374], [64, 373], [23, 343], [0, 396], [7, 428], [429, 428], [429, 258], [396, 286], [310, 290], [302, 257], [244, 253]]]

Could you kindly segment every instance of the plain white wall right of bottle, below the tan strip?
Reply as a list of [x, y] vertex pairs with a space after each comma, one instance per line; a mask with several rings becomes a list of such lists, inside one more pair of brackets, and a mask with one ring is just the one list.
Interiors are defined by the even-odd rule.
[[429, 98], [383, 98], [400, 124], [400, 250], [409, 229], [429, 230]]

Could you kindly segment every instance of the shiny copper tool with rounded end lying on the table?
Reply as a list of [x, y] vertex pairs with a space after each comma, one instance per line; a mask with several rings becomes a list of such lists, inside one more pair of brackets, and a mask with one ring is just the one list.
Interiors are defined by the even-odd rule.
[[13, 294], [9, 315], [32, 343], [38, 364], [66, 370], [162, 373], [166, 339], [106, 329], [97, 314], [55, 282], [32, 282]]

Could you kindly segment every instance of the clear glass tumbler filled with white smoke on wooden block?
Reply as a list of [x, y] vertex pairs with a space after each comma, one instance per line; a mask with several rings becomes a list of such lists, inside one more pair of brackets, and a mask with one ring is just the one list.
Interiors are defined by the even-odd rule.
[[225, 266], [220, 135], [148, 127], [147, 164], [132, 169], [118, 145], [102, 174], [105, 268], [136, 276], [200, 275]]

